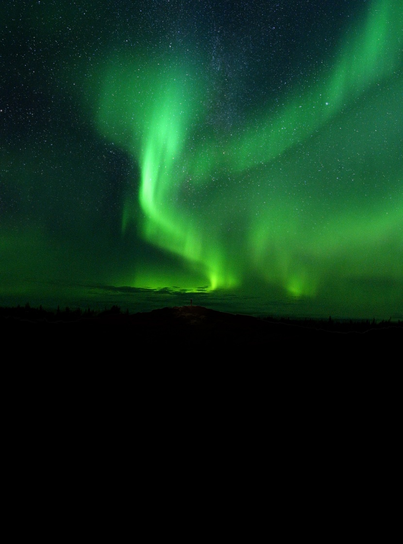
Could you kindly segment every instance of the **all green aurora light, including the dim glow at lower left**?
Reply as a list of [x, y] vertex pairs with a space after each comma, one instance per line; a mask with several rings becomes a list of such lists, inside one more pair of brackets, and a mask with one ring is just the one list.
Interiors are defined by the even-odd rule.
[[[70, 153], [59, 136], [54, 149], [33, 135], [23, 152], [2, 146], [2, 295], [203, 287], [211, 300], [275, 293], [308, 314], [401, 315], [403, 3], [364, 3], [333, 41], [331, 64], [276, 95], [263, 82], [246, 105], [192, 40], [166, 54], [109, 41], [91, 63], [67, 58], [57, 85], [43, 76], [50, 94], [71, 89], [79, 120]], [[105, 150], [117, 157], [108, 183], [124, 180], [113, 213]]]

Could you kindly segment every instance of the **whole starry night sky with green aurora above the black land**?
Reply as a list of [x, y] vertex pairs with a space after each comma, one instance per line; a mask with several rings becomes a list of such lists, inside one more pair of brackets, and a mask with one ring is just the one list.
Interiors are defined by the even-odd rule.
[[0, 35], [0, 305], [403, 318], [401, 0], [11, 0]]

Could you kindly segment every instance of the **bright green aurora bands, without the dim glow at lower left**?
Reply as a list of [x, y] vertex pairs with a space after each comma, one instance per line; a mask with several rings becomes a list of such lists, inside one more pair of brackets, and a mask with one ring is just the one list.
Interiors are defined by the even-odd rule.
[[[371, 3], [345, 34], [331, 69], [296, 84], [278, 112], [262, 110], [257, 121], [255, 114], [222, 137], [206, 137], [202, 66], [185, 69], [178, 59], [163, 67], [135, 66], [124, 57], [111, 61], [104, 68], [97, 125], [141, 169], [138, 194], [134, 190], [123, 207], [123, 233], [134, 221], [145, 240], [177, 255], [210, 289], [241, 286], [257, 276], [292, 296], [315, 296], [335, 267], [343, 277], [390, 270], [400, 279], [401, 166], [394, 170], [384, 157], [378, 165], [368, 155], [363, 172], [356, 156], [367, 152], [370, 138], [375, 153], [382, 149], [381, 130], [372, 134], [370, 128], [374, 121], [387, 127], [380, 101], [401, 112], [390, 89], [403, 89], [402, 21], [403, 3]], [[357, 129], [365, 138], [351, 136]], [[307, 158], [317, 149], [322, 169]], [[318, 172], [315, 189], [303, 181], [311, 180], [310, 160]], [[338, 162], [341, 182], [330, 174]], [[382, 171], [393, 197], [367, 196], [364, 188], [381, 185]], [[343, 183], [345, 189], [339, 188]], [[332, 191], [338, 195], [328, 199]], [[392, 256], [385, 253], [388, 245]], [[132, 283], [163, 281], [163, 275], [152, 276], [137, 270]]]

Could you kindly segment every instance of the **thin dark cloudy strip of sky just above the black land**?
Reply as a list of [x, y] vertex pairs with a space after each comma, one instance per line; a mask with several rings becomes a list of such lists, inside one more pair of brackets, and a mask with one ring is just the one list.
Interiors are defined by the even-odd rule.
[[[57, 285], [56, 289], [60, 289]], [[84, 311], [90, 308], [95, 311], [103, 311], [118, 306], [122, 312], [128, 310], [131, 314], [136, 312], [150, 312], [164, 307], [188, 306], [192, 300], [194, 306], [203, 306], [228, 313], [239, 313], [254, 317], [266, 318], [289, 318], [289, 319], [319, 319], [326, 320], [329, 316], [335, 320], [358, 320], [366, 321], [375, 319], [377, 322], [391, 320], [398, 322], [403, 320], [403, 312], [399, 311], [396, 304], [394, 312], [387, 312], [390, 307], [382, 311], [382, 308], [375, 305], [358, 307], [355, 313], [345, 311], [343, 307], [332, 306], [331, 302], [321, 301], [322, 305], [313, 305], [310, 299], [292, 298], [284, 299], [278, 296], [268, 298], [262, 295], [245, 295], [242, 292], [231, 292], [222, 289], [209, 293], [200, 288], [198, 291], [185, 292], [179, 289], [164, 288], [133, 288], [114, 286], [75, 286], [67, 288], [65, 293], [59, 297], [49, 295], [42, 296], [0, 296], [0, 307], [24, 307], [27, 303], [32, 308], [42, 306], [45, 310], [55, 312], [59, 307], [64, 310], [80, 308]]]

